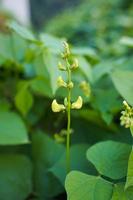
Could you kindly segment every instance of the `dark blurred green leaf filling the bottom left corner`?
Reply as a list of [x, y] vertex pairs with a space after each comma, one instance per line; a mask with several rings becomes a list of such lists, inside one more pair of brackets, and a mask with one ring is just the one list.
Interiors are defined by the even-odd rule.
[[32, 166], [23, 155], [0, 155], [0, 199], [24, 200], [32, 192]]

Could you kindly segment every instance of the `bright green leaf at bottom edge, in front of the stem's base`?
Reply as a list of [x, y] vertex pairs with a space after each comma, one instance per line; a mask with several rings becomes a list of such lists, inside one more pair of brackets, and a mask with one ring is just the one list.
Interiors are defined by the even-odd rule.
[[68, 200], [110, 200], [113, 186], [101, 177], [78, 171], [70, 172], [65, 181]]

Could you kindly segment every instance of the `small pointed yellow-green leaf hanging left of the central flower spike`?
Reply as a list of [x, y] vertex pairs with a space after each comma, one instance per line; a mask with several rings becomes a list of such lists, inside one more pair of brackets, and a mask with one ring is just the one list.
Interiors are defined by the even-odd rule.
[[15, 96], [17, 109], [25, 116], [33, 105], [33, 96], [28, 90], [28, 85], [23, 85]]

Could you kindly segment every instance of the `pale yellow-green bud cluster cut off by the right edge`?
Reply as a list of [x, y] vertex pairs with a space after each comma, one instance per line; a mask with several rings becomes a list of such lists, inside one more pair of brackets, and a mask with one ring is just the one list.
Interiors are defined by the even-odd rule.
[[121, 112], [121, 125], [126, 128], [131, 128], [133, 127], [133, 108], [130, 107], [126, 101], [123, 101], [123, 105], [125, 110]]

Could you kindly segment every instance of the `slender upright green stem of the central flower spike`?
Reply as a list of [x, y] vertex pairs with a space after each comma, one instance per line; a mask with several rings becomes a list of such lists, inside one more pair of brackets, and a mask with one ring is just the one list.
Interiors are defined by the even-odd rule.
[[[69, 63], [67, 62], [67, 72], [68, 72], [68, 84], [71, 82], [71, 71], [69, 68]], [[67, 97], [67, 141], [66, 141], [66, 173], [69, 173], [71, 164], [70, 164], [70, 127], [71, 127], [71, 89], [68, 88], [68, 97]]]

